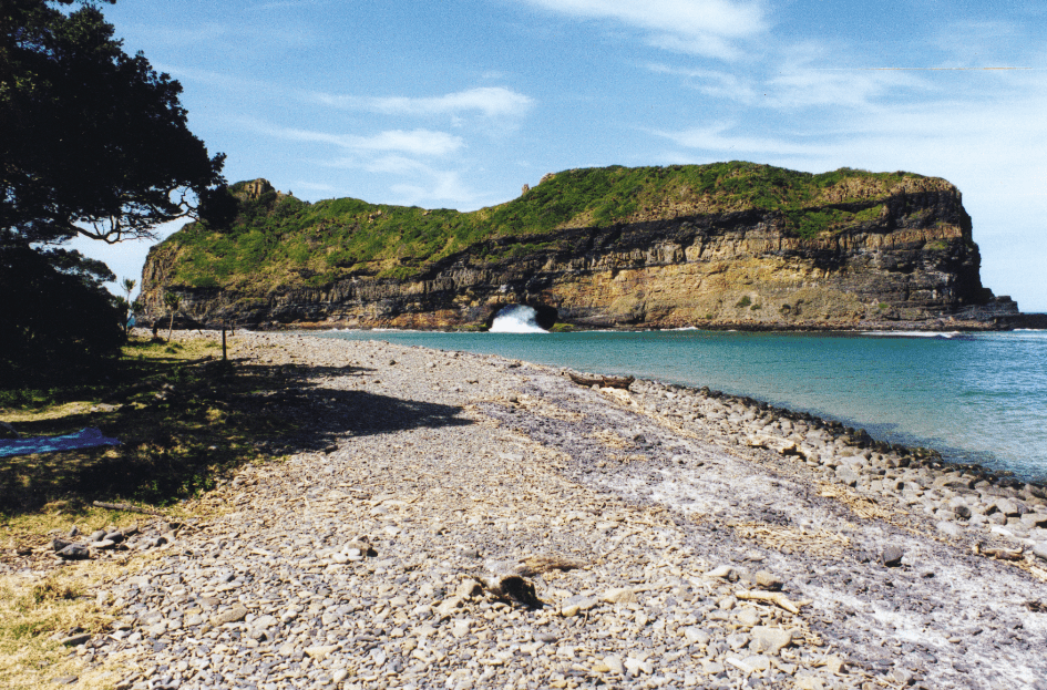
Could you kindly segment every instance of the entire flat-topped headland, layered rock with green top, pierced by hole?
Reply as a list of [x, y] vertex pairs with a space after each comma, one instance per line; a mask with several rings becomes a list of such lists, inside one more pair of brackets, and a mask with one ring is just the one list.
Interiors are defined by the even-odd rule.
[[[249, 192], [248, 192], [249, 190]], [[1017, 313], [978, 275], [959, 192], [933, 177], [749, 163], [593, 168], [471, 214], [240, 183], [234, 220], [151, 250], [143, 301], [253, 326], [990, 328]]]

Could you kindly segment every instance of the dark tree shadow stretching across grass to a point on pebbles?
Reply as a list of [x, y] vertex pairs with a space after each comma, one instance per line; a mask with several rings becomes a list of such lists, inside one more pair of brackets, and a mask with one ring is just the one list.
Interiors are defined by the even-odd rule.
[[0, 457], [0, 513], [54, 501], [73, 511], [93, 501], [164, 505], [212, 488], [245, 462], [329, 450], [346, 437], [471, 423], [451, 405], [317, 385], [366, 368], [242, 362], [229, 373], [213, 360], [134, 365], [111, 387], [107, 404], [16, 423], [23, 436], [97, 426], [122, 445]]

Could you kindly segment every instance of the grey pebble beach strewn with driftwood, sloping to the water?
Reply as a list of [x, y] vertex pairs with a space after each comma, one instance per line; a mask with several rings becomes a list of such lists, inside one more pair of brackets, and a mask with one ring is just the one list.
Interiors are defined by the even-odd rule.
[[310, 443], [129, 539], [153, 557], [75, 648], [117, 689], [1047, 689], [1040, 485], [708, 389], [292, 333], [229, 357], [286, 368]]

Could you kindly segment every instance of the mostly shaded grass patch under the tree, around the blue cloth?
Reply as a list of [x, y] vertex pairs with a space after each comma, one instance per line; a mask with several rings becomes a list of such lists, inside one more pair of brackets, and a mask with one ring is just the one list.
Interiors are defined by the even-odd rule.
[[0, 391], [0, 420], [24, 436], [97, 426], [123, 442], [0, 459], [0, 524], [57, 503], [66, 517], [93, 501], [171, 505], [258, 457], [259, 440], [294, 429], [259, 402], [285, 388], [283, 371], [239, 367], [223, 374], [216, 356], [219, 346], [204, 340], [132, 340], [107, 380]]

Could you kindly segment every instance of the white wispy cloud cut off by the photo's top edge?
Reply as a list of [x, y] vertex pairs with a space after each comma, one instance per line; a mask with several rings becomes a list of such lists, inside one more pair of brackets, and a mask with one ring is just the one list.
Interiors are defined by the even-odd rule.
[[525, 0], [576, 19], [610, 20], [643, 30], [647, 43], [675, 52], [737, 58], [735, 42], [762, 33], [760, 2], [733, 0]]

